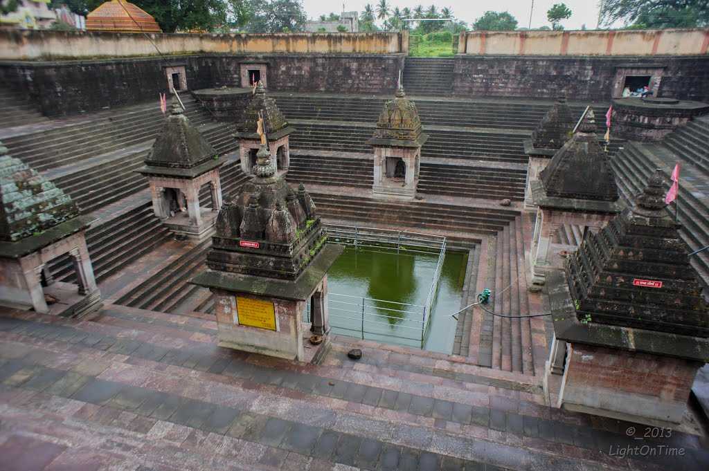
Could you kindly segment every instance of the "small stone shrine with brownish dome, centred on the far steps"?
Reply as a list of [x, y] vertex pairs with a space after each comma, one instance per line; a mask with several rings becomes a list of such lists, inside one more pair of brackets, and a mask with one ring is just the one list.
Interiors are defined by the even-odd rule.
[[384, 104], [374, 135], [374, 196], [413, 199], [418, 186], [421, 147], [428, 140], [422, 132], [416, 104], [406, 98], [400, 85], [393, 100]]

